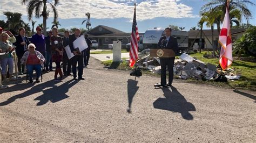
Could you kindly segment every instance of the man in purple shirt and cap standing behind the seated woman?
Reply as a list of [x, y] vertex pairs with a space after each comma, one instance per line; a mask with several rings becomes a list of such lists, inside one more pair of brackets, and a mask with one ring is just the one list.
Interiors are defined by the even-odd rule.
[[[37, 26], [36, 32], [37, 33], [35, 35], [32, 35], [31, 43], [36, 46], [37, 51], [39, 51], [45, 58], [45, 37], [42, 34], [42, 28], [40, 26]], [[45, 67], [45, 63], [44, 63], [44, 67]]]

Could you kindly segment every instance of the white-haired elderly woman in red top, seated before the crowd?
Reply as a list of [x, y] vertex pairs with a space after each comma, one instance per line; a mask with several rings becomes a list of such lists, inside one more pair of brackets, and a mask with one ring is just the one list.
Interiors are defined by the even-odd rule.
[[35, 48], [34, 44], [29, 44], [29, 51], [25, 52], [21, 59], [22, 64], [26, 65], [26, 72], [31, 83], [33, 82], [33, 69], [36, 70], [36, 82], [40, 82], [39, 77], [42, 74], [43, 63], [45, 62], [44, 56]]

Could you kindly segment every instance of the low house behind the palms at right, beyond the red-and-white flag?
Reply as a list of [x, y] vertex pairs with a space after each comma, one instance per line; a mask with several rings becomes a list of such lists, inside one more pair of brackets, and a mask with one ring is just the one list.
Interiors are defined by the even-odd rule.
[[[245, 28], [236, 28], [231, 29], [232, 40], [235, 41], [239, 39], [242, 34], [246, 31]], [[219, 39], [219, 32], [218, 30], [213, 30], [213, 46], [216, 48], [218, 47], [218, 39]], [[193, 47], [194, 45], [199, 45], [200, 40], [200, 30], [190, 30], [188, 33], [188, 47]], [[193, 44], [194, 41], [194, 44]], [[212, 49], [212, 30], [203, 30], [202, 34], [202, 48]], [[193, 45], [192, 45], [193, 44]], [[192, 46], [191, 46], [192, 45]]]

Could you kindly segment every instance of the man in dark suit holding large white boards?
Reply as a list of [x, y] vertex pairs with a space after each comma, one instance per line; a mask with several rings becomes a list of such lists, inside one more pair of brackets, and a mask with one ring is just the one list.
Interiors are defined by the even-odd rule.
[[73, 41], [75, 41], [77, 38], [79, 38], [80, 35], [80, 30], [76, 29], [75, 30], [75, 34], [70, 35], [69, 37], [69, 47], [71, 52], [73, 52], [75, 54], [75, 56], [71, 59], [72, 60], [72, 72], [73, 72], [73, 77], [74, 80], [77, 80], [77, 62], [78, 62], [78, 80], [84, 80], [84, 78], [82, 77], [83, 75], [83, 60], [84, 60], [84, 52], [83, 51], [77, 51], [78, 47], [74, 47], [73, 46]]

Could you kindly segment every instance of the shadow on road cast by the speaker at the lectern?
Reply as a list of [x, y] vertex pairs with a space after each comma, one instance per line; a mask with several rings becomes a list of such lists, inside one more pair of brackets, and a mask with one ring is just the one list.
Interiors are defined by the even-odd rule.
[[195, 106], [187, 102], [176, 88], [171, 86], [171, 90], [169, 88], [161, 88], [161, 90], [163, 90], [165, 98], [158, 98], [153, 103], [154, 108], [179, 112], [184, 119], [193, 120], [189, 111], [196, 111]]

